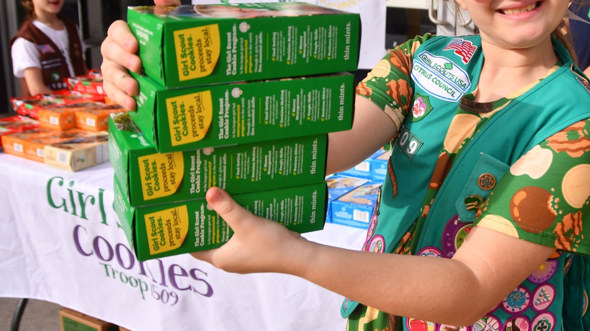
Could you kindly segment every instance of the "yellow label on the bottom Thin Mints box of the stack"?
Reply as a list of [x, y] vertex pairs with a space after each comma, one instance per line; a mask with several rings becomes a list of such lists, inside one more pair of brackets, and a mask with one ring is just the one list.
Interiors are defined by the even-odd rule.
[[186, 206], [179, 206], [146, 214], [150, 254], [178, 249], [186, 238], [189, 227]]

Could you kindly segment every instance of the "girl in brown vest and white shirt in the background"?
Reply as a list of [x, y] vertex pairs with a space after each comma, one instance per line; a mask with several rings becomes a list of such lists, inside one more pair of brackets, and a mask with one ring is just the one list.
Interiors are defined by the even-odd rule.
[[64, 78], [87, 73], [80, 31], [59, 15], [64, 0], [22, 0], [26, 21], [11, 39], [12, 68], [22, 95], [67, 88]]

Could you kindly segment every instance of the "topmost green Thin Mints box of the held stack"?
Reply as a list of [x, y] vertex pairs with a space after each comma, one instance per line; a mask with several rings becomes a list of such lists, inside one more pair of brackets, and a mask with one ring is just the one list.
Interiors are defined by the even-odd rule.
[[355, 71], [360, 15], [277, 2], [135, 6], [146, 75], [165, 87]]

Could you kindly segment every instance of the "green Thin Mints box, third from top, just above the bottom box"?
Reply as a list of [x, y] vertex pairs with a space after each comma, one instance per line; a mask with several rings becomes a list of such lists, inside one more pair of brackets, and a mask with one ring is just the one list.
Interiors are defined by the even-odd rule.
[[194, 200], [212, 186], [230, 194], [323, 181], [327, 134], [157, 153], [130, 120], [111, 115], [110, 162], [130, 206]]

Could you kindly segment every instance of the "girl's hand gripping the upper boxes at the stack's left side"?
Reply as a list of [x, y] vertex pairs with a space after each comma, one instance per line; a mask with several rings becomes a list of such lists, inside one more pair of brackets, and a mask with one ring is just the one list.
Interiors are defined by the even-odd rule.
[[[180, 5], [180, 0], [154, 0], [154, 3]], [[132, 96], [139, 93], [137, 81], [129, 75], [129, 71], [140, 72], [142, 69], [142, 61], [137, 56], [138, 49], [137, 39], [127, 22], [122, 20], [110, 25], [107, 37], [100, 47], [103, 55], [100, 69], [104, 92], [111, 100], [128, 110], [135, 110], [136, 103]]]

